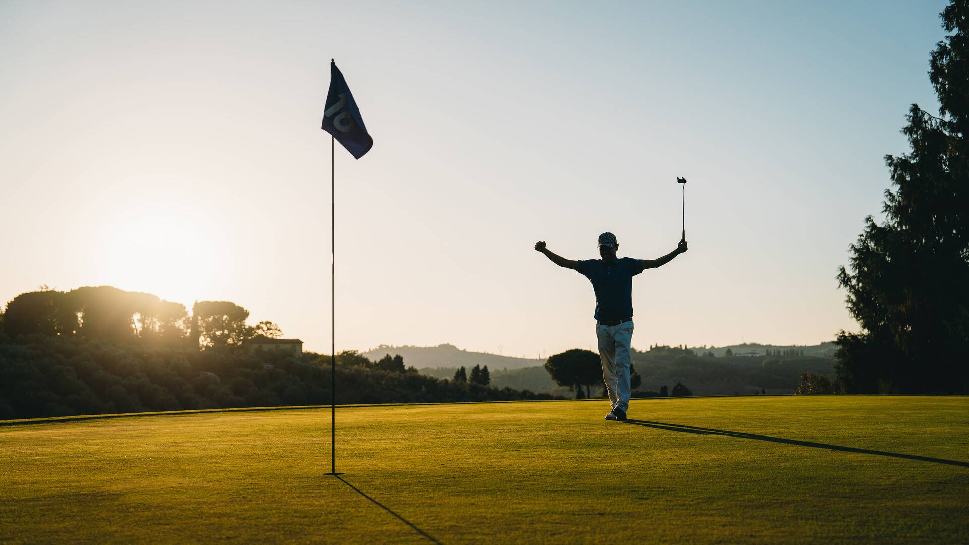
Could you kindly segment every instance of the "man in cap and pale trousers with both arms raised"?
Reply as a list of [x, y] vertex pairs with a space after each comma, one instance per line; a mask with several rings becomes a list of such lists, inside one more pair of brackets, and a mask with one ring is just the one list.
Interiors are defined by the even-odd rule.
[[615, 235], [599, 236], [599, 255], [602, 259], [572, 261], [557, 256], [546, 248], [545, 240], [535, 243], [555, 265], [581, 272], [596, 292], [596, 337], [599, 339], [599, 360], [603, 367], [603, 381], [611, 405], [606, 420], [626, 420], [629, 409], [629, 368], [632, 360], [630, 341], [633, 339], [633, 276], [646, 269], [663, 267], [672, 258], [686, 251], [686, 240], [659, 259], [617, 259], [619, 243]]

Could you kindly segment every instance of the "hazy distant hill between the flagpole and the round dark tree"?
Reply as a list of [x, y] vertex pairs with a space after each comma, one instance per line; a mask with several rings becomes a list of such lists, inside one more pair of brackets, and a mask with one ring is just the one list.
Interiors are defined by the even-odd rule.
[[471, 369], [475, 366], [487, 366], [487, 369], [494, 373], [498, 369], [524, 369], [545, 365], [545, 360], [512, 358], [497, 354], [485, 354], [485, 352], [469, 352], [467, 350], [461, 350], [453, 344], [438, 344], [437, 346], [390, 346], [388, 344], [381, 344], [372, 350], [362, 353], [364, 357], [374, 361], [383, 358], [385, 354], [390, 354], [391, 356], [400, 354], [404, 359], [405, 366], [414, 366], [418, 369], [456, 369], [460, 367]]

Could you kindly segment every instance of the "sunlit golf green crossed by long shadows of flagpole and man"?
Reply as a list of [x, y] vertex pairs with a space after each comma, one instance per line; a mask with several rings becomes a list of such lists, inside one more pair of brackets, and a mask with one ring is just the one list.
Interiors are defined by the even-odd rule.
[[0, 542], [969, 542], [969, 398], [534, 401], [0, 426]]

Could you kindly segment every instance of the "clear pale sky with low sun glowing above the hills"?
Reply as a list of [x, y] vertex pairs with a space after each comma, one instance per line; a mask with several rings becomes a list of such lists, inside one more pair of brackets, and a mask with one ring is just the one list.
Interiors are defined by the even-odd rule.
[[0, 299], [228, 300], [328, 352], [335, 57], [375, 142], [336, 149], [338, 350], [592, 346], [535, 241], [659, 257], [676, 176], [633, 345], [829, 340], [945, 4], [6, 0]]

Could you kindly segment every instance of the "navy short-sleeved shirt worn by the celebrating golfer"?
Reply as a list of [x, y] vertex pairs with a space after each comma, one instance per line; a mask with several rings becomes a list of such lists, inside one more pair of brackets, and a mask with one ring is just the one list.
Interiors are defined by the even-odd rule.
[[601, 259], [578, 262], [578, 272], [592, 282], [596, 292], [596, 313], [604, 322], [633, 317], [633, 276], [642, 272], [639, 259], [624, 257], [607, 264]]

